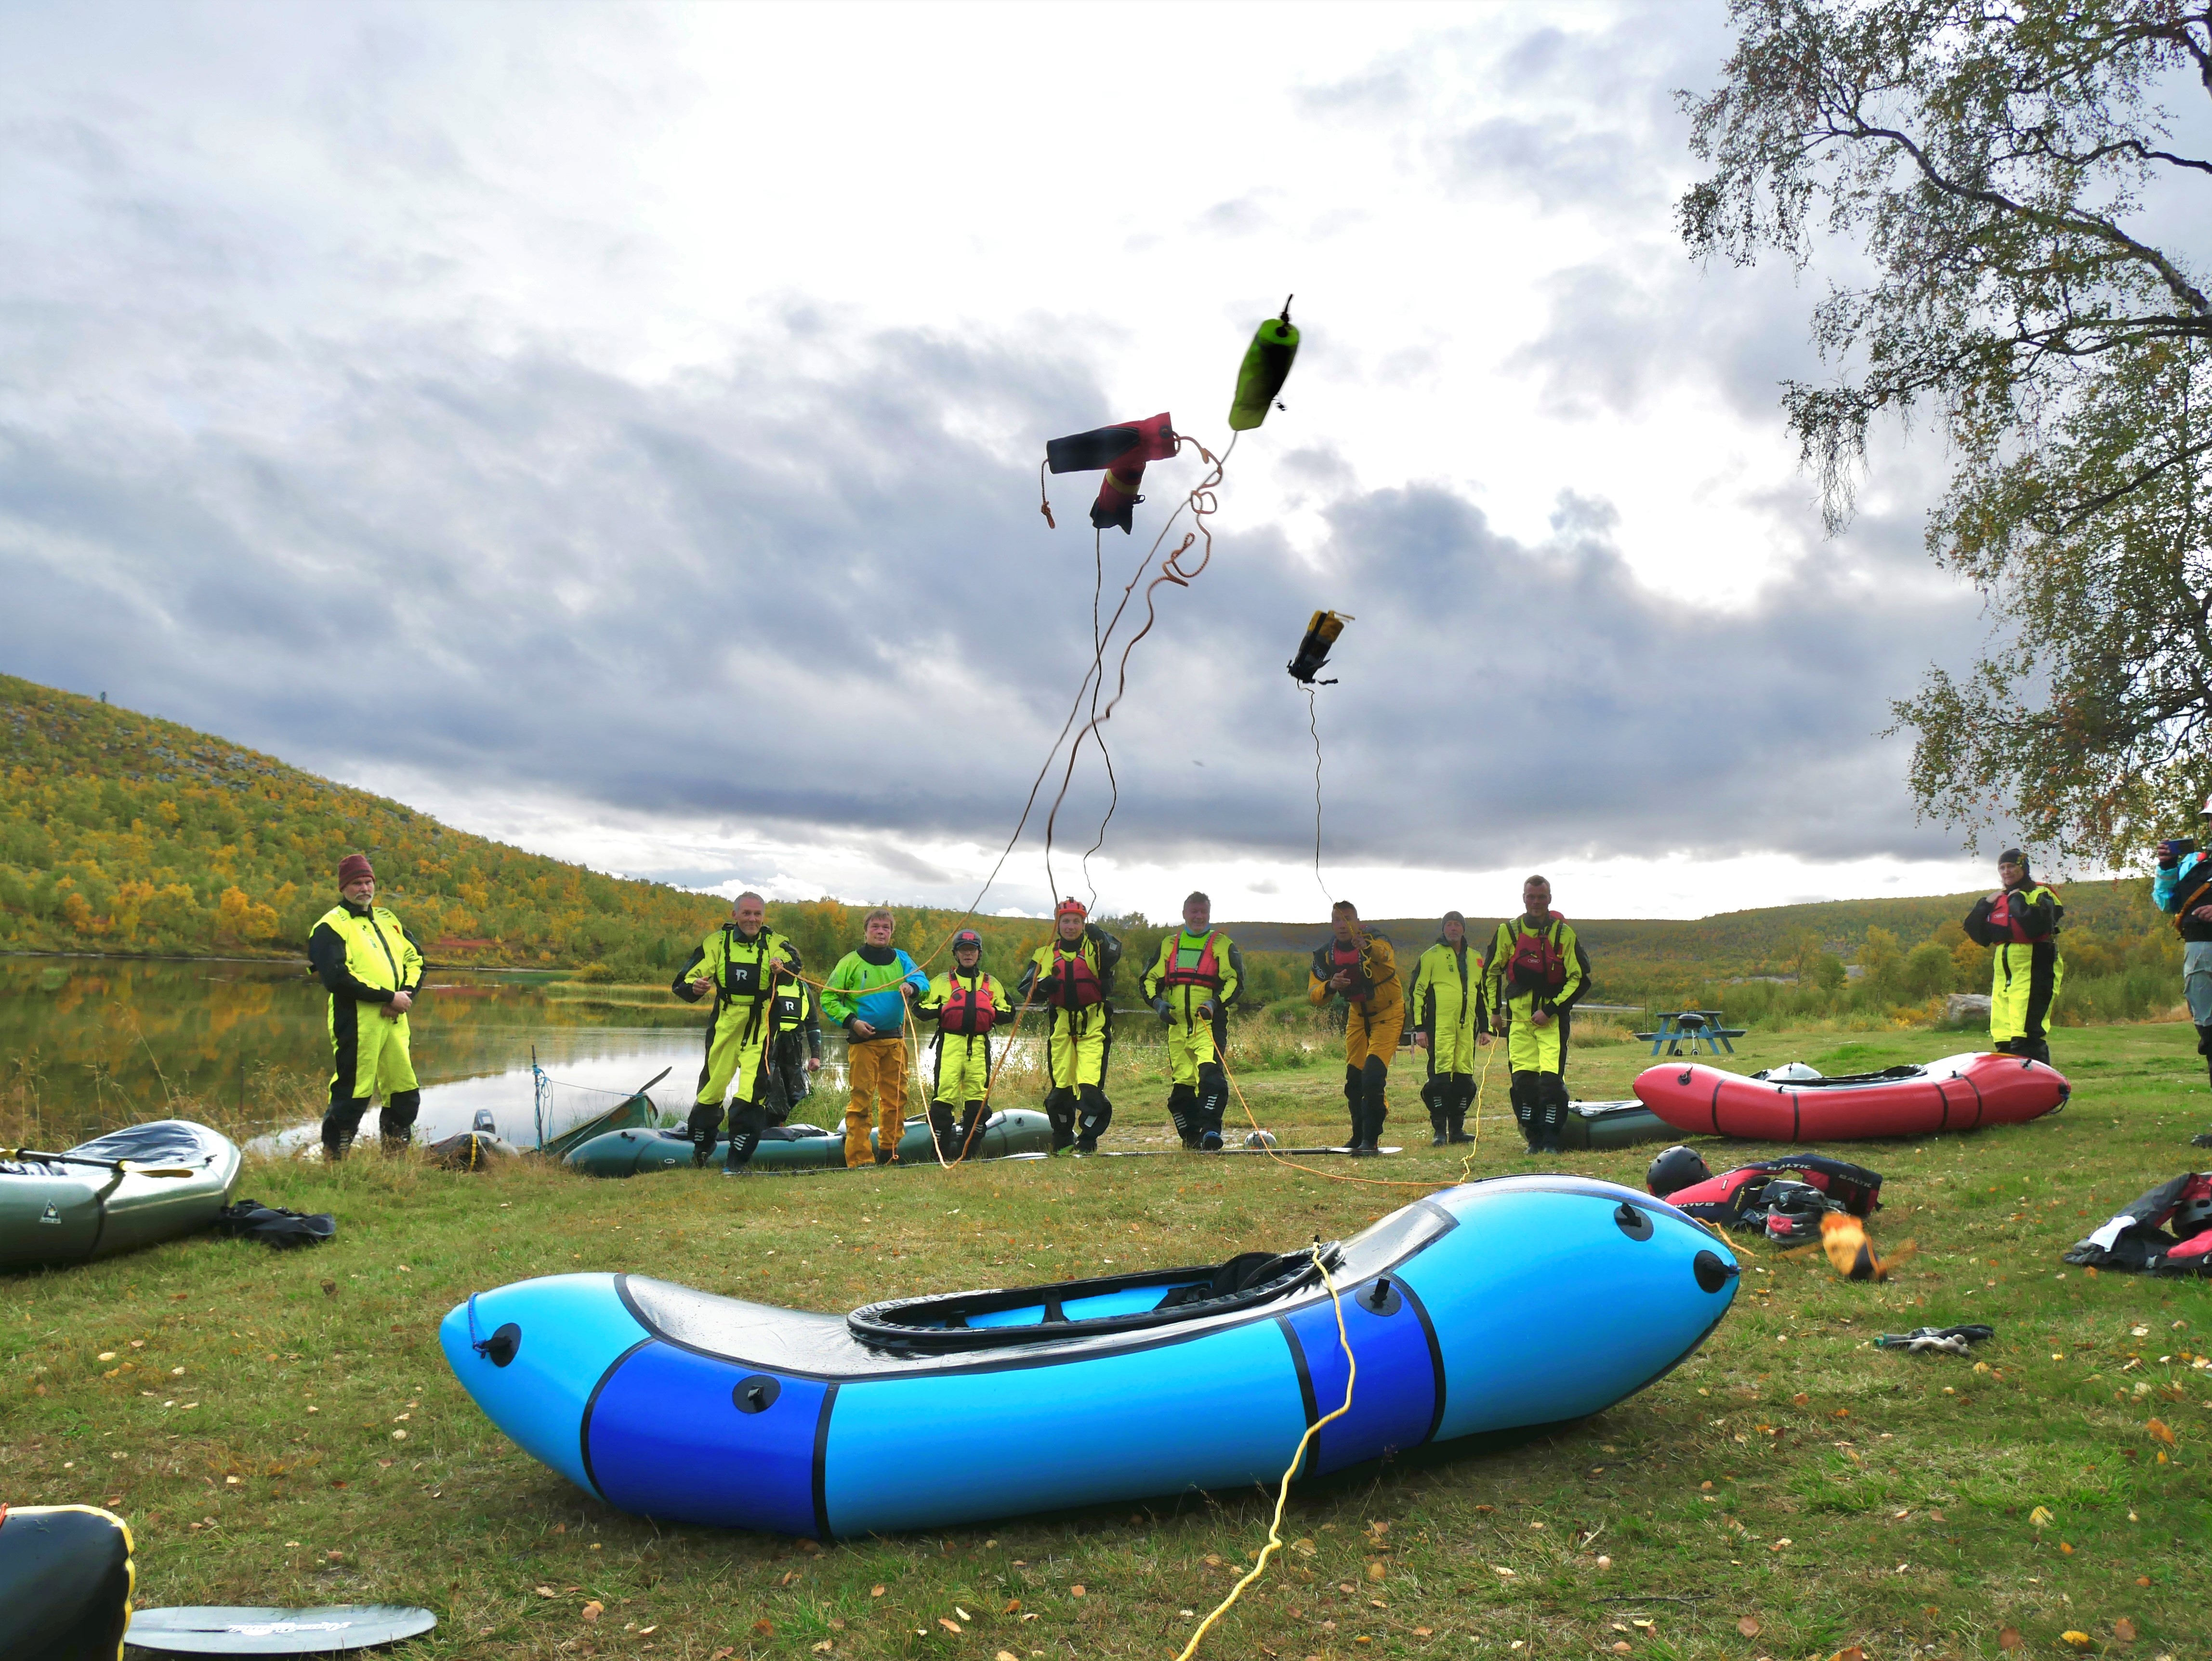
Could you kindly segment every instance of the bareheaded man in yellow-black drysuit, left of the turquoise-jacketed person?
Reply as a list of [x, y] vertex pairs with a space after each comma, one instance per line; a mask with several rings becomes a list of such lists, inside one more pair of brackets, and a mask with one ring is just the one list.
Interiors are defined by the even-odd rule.
[[714, 1020], [706, 1028], [706, 1059], [692, 1095], [692, 1163], [714, 1157], [721, 1104], [730, 1097], [730, 1150], [723, 1174], [737, 1174], [768, 1130], [768, 1044], [774, 1037], [774, 1002], [799, 984], [799, 947], [768, 927], [768, 902], [748, 889], [730, 905], [730, 920], [699, 942], [690, 962], [668, 984], [686, 1004], [714, 993]]

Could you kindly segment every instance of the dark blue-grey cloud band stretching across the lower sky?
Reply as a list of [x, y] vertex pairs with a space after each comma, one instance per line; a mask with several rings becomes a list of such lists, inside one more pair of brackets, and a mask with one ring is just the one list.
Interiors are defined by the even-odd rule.
[[[770, 367], [792, 349], [677, 387], [427, 343], [376, 376], [301, 363], [332, 407], [283, 442], [13, 422], [9, 666], [310, 765], [995, 845], [1091, 659], [1093, 480], [1055, 480], [1046, 533], [1031, 464], [956, 427], [1026, 458], [1102, 398], [1073, 365], [927, 334], [812, 378]], [[1595, 482], [1522, 546], [1442, 489], [1360, 493], [1318, 451], [1294, 471], [1340, 491], [1312, 557], [1237, 524], [1232, 473], [1212, 566], [1157, 595], [1106, 725], [1113, 852], [1310, 847], [1281, 666], [1316, 606], [1358, 615], [1321, 692], [1332, 847], [1947, 852], [1871, 734], [1971, 608], [1816, 549], [1712, 615], [1632, 579]], [[1155, 469], [1139, 526], [1188, 473]], [[1141, 553], [1108, 533], [1108, 608]], [[1104, 807], [1086, 763], [1060, 845]]]

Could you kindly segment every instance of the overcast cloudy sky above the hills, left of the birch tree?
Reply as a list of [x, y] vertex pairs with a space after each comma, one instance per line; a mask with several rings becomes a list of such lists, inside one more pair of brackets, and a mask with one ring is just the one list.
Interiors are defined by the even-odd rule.
[[[1721, 13], [13, 7], [0, 666], [606, 869], [964, 905], [1201, 473], [1135, 537], [1057, 478], [1048, 531], [1044, 440], [1219, 451], [1296, 292], [1060, 889], [1980, 885], [1876, 737], [1986, 626], [1940, 447], [1823, 540], [1776, 405], [1823, 279], [1672, 232]], [[984, 909], [1048, 902], [1057, 779]]]

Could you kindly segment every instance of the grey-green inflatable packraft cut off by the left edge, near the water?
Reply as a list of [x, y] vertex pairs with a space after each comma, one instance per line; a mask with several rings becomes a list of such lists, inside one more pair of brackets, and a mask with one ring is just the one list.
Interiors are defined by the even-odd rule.
[[237, 1181], [239, 1146], [190, 1119], [0, 1159], [0, 1267], [91, 1263], [190, 1234], [230, 1203]]

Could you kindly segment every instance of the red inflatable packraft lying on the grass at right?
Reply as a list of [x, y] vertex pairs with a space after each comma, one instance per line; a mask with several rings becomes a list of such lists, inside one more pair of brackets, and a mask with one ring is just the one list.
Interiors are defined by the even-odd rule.
[[[1973, 1093], [1973, 1112], [1951, 1101], [1951, 1084]], [[2068, 1095], [2064, 1075], [2017, 1055], [1949, 1055], [1911, 1077], [1785, 1086], [1712, 1066], [1655, 1066], [1635, 1084], [1637, 1099], [1677, 1130], [1761, 1141], [1849, 1141], [1922, 1137], [2026, 1124], [2055, 1112]], [[1953, 1106], [1960, 1110], [1953, 1112]]]

